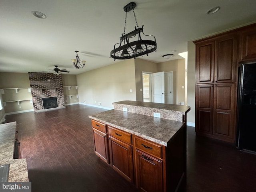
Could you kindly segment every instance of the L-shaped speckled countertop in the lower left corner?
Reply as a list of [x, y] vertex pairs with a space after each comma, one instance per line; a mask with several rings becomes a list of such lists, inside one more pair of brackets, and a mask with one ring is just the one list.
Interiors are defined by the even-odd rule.
[[13, 159], [16, 122], [0, 124], [0, 165], [10, 164], [8, 182], [28, 182], [26, 159]]

